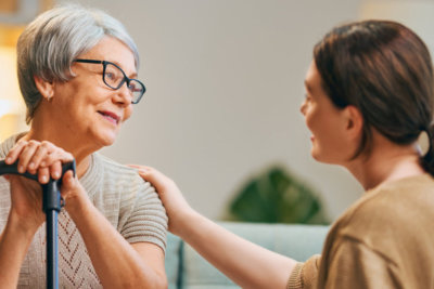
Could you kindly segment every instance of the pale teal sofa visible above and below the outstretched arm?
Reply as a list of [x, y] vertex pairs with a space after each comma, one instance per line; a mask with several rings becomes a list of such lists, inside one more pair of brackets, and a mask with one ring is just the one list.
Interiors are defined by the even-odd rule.
[[[321, 252], [329, 226], [224, 223], [220, 225], [275, 252], [305, 261]], [[168, 234], [166, 273], [169, 289], [240, 288], [197, 254], [188, 244]]]

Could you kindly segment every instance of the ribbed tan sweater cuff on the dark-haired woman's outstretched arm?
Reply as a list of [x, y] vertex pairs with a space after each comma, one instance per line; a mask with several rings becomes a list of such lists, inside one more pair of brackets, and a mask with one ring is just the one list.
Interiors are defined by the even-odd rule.
[[316, 289], [321, 255], [316, 254], [305, 263], [297, 263], [288, 281], [288, 289]]

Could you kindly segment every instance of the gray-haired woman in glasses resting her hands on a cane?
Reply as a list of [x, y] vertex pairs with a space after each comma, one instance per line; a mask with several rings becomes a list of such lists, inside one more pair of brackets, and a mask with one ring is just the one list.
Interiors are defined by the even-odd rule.
[[[65, 288], [166, 287], [167, 216], [154, 188], [98, 153], [113, 144], [139, 103], [139, 55], [124, 26], [78, 5], [39, 15], [20, 37], [18, 79], [30, 130], [0, 145], [0, 158], [39, 183], [62, 181], [60, 285]], [[0, 179], [0, 284], [44, 287], [40, 184]]]

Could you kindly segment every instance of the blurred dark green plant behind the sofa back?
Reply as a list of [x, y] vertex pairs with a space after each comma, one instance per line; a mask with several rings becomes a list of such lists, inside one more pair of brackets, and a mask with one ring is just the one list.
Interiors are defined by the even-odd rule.
[[312, 189], [278, 166], [244, 184], [228, 209], [228, 219], [239, 222], [329, 223]]

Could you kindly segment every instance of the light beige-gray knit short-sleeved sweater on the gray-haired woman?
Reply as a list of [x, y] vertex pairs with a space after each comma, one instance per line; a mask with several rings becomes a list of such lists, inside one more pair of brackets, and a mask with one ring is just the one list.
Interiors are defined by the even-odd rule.
[[[0, 145], [0, 159], [15, 144], [14, 135]], [[89, 199], [130, 244], [152, 242], [166, 248], [167, 215], [150, 183], [136, 170], [98, 153], [79, 179]], [[10, 185], [0, 178], [0, 229], [10, 211]], [[60, 288], [102, 288], [85, 242], [65, 210], [59, 214]], [[46, 288], [46, 224], [37, 231], [23, 262], [18, 288]]]

